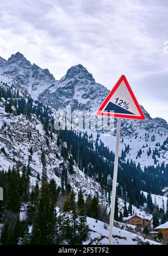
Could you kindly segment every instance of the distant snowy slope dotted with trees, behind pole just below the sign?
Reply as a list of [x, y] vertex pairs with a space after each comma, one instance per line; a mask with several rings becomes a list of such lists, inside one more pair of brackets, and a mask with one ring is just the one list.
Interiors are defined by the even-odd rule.
[[[126, 123], [125, 123], [126, 122]], [[136, 122], [136, 121], [134, 121]], [[147, 121], [146, 121], [147, 122]], [[152, 121], [153, 123], [155, 121]], [[151, 123], [152, 123], [151, 122]], [[149, 122], [147, 122], [149, 124]], [[150, 166], [150, 165], [158, 165], [158, 164], [168, 164], [168, 145], [166, 144], [166, 150], [162, 150], [160, 146], [156, 146], [156, 144], [159, 142], [160, 145], [164, 143], [164, 141], [168, 137], [168, 131], [166, 128], [166, 125], [161, 126], [161, 122], [156, 122], [155, 123], [156, 127], [149, 128], [143, 128], [141, 125], [137, 125], [135, 128], [135, 131], [133, 133], [128, 133], [124, 134], [125, 131], [128, 132], [128, 127], [130, 126], [131, 129], [133, 127], [132, 122], [125, 121], [123, 120], [123, 126], [122, 126], [122, 134], [120, 136], [120, 147], [119, 147], [119, 155], [121, 156], [122, 150], [125, 150], [125, 146], [129, 145], [129, 151], [126, 153], [125, 156], [125, 161], [127, 159], [132, 159], [133, 161], [136, 161], [136, 163], [141, 165], [141, 168], [143, 169], [145, 166]], [[125, 128], [127, 126], [127, 128]], [[85, 130], [84, 130], [85, 131]], [[87, 131], [88, 134], [92, 133], [92, 136], [94, 140], [96, 141], [97, 138], [97, 132], [95, 131]], [[116, 137], [113, 135], [109, 135], [106, 133], [99, 133], [99, 141], [104, 142], [104, 145], [109, 147], [109, 149], [113, 152], [115, 152], [115, 142], [116, 142]], [[147, 136], [146, 136], [147, 134]], [[152, 140], [153, 136], [155, 136], [155, 141]], [[151, 148], [151, 154], [148, 156], [148, 151]], [[153, 156], [153, 150], [157, 149], [160, 155], [156, 155], [156, 161], [157, 163], [155, 164], [154, 159], [152, 158]], [[139, 157], [138, 156], [138, 151], [141, 150], [142, 154]]]

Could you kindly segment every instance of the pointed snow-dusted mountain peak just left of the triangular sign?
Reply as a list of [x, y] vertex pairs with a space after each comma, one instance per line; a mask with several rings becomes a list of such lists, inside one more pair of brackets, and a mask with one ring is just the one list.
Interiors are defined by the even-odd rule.
[[95, 82], [92, 74], [78, 64], [68, 69], [66, 75], [39, 95], [43, 104], [55, 109], [71, 105], [72, 110], [96, 110], [108, 89]]

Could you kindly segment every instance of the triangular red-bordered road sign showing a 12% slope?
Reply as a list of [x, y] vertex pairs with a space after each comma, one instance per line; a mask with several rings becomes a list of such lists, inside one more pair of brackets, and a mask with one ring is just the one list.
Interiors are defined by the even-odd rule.
[[145, 119], [125, 75], [122, 75], [115, 84], [97, 111], [97, 115], [112, 116], [115, 118]]

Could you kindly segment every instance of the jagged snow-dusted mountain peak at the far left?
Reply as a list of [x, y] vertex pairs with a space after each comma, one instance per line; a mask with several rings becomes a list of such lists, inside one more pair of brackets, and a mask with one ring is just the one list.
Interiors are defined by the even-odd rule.
[[13, 54], [7, 61], [0, 59], [1, 80], [10, 79], [11, 84], [18, 84], [33, 98], [38, 99], [41, 92], [53, 86], [56, 82], [48, 69], [41, 69], [38, 65], [28, 61], [22, 53]]

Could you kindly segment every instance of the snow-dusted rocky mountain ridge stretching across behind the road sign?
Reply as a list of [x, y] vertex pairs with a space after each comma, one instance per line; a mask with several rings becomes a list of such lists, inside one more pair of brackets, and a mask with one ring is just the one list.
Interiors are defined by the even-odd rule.
[[[67, 106], [71, 106], [72, 111], [96, 111], [109, 93], [107, 88], [95, 82], [92, 74], [81, 64], [72, 66], [64, 77], [56, 80], [48, 69], [41, 69], [35, 64], [32, 65], [19, 52], [12, 55], [8, 60], [0, 59], [0, 82], [7, 82], [22, 93], [30, 95], [55, 110], [65, 110]], [[162, 118], [151, 118], [143, 106], [141, 107], [146, 120], [122, 119], [121, 136], [123, 142], [120, 147], [120, 154], [125, 149], [125, 145], [129, 145], [130, 151], [127, 152], [125, 160], [132, 158], [144, 167], [154, 163], [152, 154], [148, 156], [147, 152], [149, 148], [151, 151], [155, 150], [158, 142], [162, 145], [166, 141], [168, 124]], [[114, 123], [116, 124], [116, 120]], [[101, 134], [101, 140], [114, 151], [115, 137], [112, 136], [109, 140], [105, 135]], [[111, 143], [113, 141], [114, 143]], [[165, 147], [168, 148], [167, 142]], [[138, 156], [139, 150], [142, 151], [141, 158]], [[156, 156], [157, 163], [168, 163], [167, 151], [162, 150], [158, 156]]]

